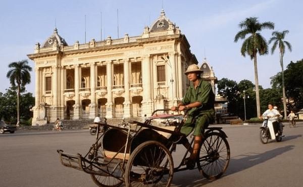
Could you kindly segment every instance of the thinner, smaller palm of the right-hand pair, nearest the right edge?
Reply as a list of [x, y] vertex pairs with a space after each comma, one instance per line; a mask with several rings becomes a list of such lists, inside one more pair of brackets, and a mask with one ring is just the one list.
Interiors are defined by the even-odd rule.
[[286, 97], [285, 97], [285, 86], [284, 86], [284, 70], [283, 70], [283, 56], [285, 53], [285, 45], [287, 46], [288, 50], [291, 52], [291, 44], [288, 41], [285, 41], [285, 35], [289, 33], [288, 30], [283, 30], [282, 32], [274, 31], [272, 33], [272, 36], [268, 44], [270, 44], [272, 41], [274, 41], [274, 44], [271, 48], [271, 54], [273, 55], [277, 45], [279, 45], [279, 51], [280, 51], [280, 65], [282, 68], [282, 93], [283, 93], [283, 108], [284, 108], [284, 119], [286, 119], [287, 113], [286, 113]]

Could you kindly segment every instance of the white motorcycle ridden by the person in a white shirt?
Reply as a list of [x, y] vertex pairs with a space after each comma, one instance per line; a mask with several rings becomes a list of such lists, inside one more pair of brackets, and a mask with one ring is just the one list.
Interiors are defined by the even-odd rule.
[[261, 128], [261, 142], [263, 144], [267, 144], [269, 139], [276, 139], [277, 142], [282, 141], [283, 133], [283, 125], [282, 123], [278, 123], [278, 126], [274, 127], [273, 122], [268, 120], [270, 117], [263, 116], [263, 124]]

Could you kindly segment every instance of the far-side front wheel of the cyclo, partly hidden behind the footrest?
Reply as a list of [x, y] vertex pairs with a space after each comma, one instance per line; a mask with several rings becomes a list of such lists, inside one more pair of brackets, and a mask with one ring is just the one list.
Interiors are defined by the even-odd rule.
[[[103, 149], [102, 149], [102, 145], [98, 145], [98, 155], [97, 157], [93, 158], [92, 161], [93, 162], [100, 162], [103, 163], [104, 162], [104, 157], [103, 157]], [[100, 172], [100, 175], [96, 175], [96, 174], [91, 174], [91, 178], [93, 180], [93, 182], [95, 184], [97, 184], [98, 186], [103, 186], [103, 187], [110, 187], [110, 186], [120, 186], [123, 183], [122, 179], [118, 179], [116, 177], [113, 177], [112, 175], [106, 174], [106, 173], [102, 173], [102, 171], [100, 171], [98, 168], [94, 167], [94, 166], [90, 166], [92, 170], [95, 170], [96, 172]], [[123, 171], [119, 171], [119, 173], [115, 173], [118, 175], [123, 175]], [[114, 175], [114, 174], [113, 174]]]

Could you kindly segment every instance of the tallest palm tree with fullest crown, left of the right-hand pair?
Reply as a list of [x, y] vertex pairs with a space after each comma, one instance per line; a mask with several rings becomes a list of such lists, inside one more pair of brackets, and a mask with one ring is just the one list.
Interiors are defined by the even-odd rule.
[[241, 55], [249, 55], [250, 59], [254, 59], [255, 66], [255, 89], [256, 89], [256, 101], [257, 101], [257, 116], [260, 116], [260, 97], [259, 97], [259, 80], [258, 80], [258, 67], [257, 67], [257, 53], [259, 55], [268, 54], [268, 46], [266, 39], [260, 34], [263, 29], [274, 29], [273, 22], [260, 23], [257, 17], [249, 17], [239, 23], [239, 27], [242, 29], [236, 35], [234, 42], [239, 39], [245, 39], [245, 36], [249, 34], [241, 47]]

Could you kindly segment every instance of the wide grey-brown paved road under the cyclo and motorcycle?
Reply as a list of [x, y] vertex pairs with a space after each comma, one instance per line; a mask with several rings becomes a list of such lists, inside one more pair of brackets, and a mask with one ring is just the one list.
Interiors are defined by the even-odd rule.
[[[285, 126], [282, 142], [266, 145], [260, 142], [259, 125], [222, 126], [231, 148], [225, 175], [209, 181], [197, 170], [181, 171], [172, 186], [303, 186], [302, 122]], [[88, 130], [0, 134], [0, 186], [96, 186], [88, 174], [62, 166], [56, 152], [84, 154], [93, 141]], [[173, 154], [175, 165], [181, 152]]]

